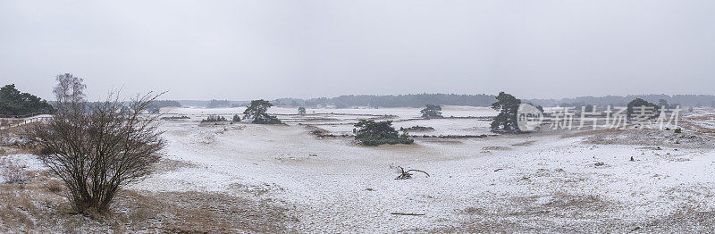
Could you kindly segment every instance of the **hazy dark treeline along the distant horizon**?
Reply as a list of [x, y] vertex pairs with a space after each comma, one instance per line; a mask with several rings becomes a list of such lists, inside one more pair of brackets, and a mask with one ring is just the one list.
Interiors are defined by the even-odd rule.
[[[425, 104], [442, 105], [467, 105], [467, 106], [492, 106], [496, 102], [493, 95], [456, 95], [456, 94], [409, 94], [409, 95], [347, 95], [337, 97], [320, 97], [310, 99], [299, 98], [279, 98], [271, 101], [275, 105], [291, 106], [334, 106], [337, 108], [350, 108], [353, 106], [380, 107], [422, 107]], [[518, 98], [518, 96], [517, 96]], [[715, 96], [712, 95], [630, 95], [630, 96], [580, 96], [562, 99], [522, 99], [523, 102], [539, 104], [545, 107], [550, 106], [584, 106], [587, 104], [598, 106], [626, 106], [628, 102], [635, 98], [642, 98], [652, 103], [658, 103], [660, 99], [669, 104], [679, 104], [681, 106], [712, 106], [715, 107]], [[178, 101], [184, 106], [199, 107], [237, 107], [246, 106], [248, 101]]]

